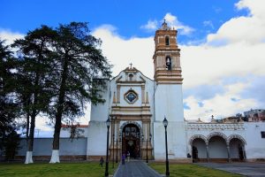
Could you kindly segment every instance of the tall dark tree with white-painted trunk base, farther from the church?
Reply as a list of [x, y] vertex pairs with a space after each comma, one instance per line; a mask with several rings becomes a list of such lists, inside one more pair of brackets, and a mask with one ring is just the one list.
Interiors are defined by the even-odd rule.
[[[29, 31], [24, 39], [16, 40], [12, 45], [19, 48], [18, 87], [21, 108], [27, 115], [27, 130], [30, 129], [27, 141], [27, 158], [25, 164], [33, 163], [34, 127], [36, 116], [48, 112], [50, 99], [53, 96], [50, 89], [52, 78], [49, 73], [53, 68], [52, 43], [56, 32], [47, 26]], [[27, 132], [28, 134], [28, 132]]]

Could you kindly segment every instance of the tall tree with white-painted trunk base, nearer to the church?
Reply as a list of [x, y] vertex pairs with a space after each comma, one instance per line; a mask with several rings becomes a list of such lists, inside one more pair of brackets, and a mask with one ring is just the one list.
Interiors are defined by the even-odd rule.
[[[54, 61], [57, 70], [53, 72], [53, 78], [56, 78], [56, 96], [53, 100], [56, 102], [50, 112], [50, 117], [55, 119], [55, 130], [49, 163], [60, 162], [59, 136], [62, 119], [78, 117], [88, 101], [94, 104], [104, 102], [99, 93], [104, 81], [93, 82], [93, 79], [110, 78], [111, 65], [98, 49], [101, 41], [88, 33], [87, 23], [72, 22], [57, 27], [57, 59]], [[92, 87], [94, 83], [95, 87]]]

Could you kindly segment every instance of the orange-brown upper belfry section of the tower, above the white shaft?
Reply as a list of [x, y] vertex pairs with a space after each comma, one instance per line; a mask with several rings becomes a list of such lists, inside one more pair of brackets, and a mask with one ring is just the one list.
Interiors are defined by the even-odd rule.
[[168, 27], [164, 21], [155, 32], [155, 65], [156, 84], [182, 84], [180, 54], [175, 29]]

